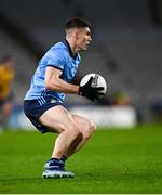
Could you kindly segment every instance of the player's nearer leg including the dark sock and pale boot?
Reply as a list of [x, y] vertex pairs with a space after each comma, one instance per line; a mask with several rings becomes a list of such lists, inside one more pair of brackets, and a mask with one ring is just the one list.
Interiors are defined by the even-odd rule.
[[60, 157], [67, 153], [71, 145], [77, 145], [80, 142], [81, 133], [78, 125], [62, 105], [54, 106], [44, 112], [39, 121], [52, 132], [59, 133], [55, 141], [52, 158], [44, 166], [43, 177], [73, 177], [71, 172], [62, 171], [64, 167]]

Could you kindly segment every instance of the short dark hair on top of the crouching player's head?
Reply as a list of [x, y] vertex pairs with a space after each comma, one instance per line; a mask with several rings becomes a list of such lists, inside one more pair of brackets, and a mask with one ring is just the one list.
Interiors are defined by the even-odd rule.
[[70, 28], [85, 28], [85, 27], [91, 27], [90, 23], [87, 21], [84, 21], [82, 18], [78, 17], [72, 17], [69, 21], [66, 22], [65, 24], [65, 29], [70, 29]]

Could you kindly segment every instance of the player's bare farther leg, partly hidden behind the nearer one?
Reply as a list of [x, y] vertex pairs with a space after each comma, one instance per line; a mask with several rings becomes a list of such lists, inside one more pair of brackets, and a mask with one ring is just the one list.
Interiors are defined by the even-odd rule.
[[82, 134], [82, 139], [77, 145], [75, 145], [73, 147], [69, 147], [68, 152], [65, 154], [67, 158], [71, 156], [73, 153], [76, 153], [77, 151], [79, 151], [87, 142], [87, 140], [93, 135], [93, 133], [96, 130], [96, 126], [89, 119], [78, 116], [78, 115], [72, 115], [72, 118], [79, 126], [79, 131]]

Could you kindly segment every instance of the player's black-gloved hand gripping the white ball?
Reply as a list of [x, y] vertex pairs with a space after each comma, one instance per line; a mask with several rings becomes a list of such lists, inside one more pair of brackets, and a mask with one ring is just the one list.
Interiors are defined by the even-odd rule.
[[104, 90], [103, 87], [92, 87], [93, 77], [84, 86], [79, 87], [79, 95], [85, 96], [91, 101], [97, 100], [97, 95], [103, 95], [100, 91]]

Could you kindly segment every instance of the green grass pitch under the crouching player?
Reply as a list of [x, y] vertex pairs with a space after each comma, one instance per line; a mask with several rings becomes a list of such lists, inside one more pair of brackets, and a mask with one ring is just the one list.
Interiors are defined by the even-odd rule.
[[162, 193], [162, 126], [96, 131], [67, 162], [75, 179], [41, 178], [56, 135], [0, 134], [0, 194]]

